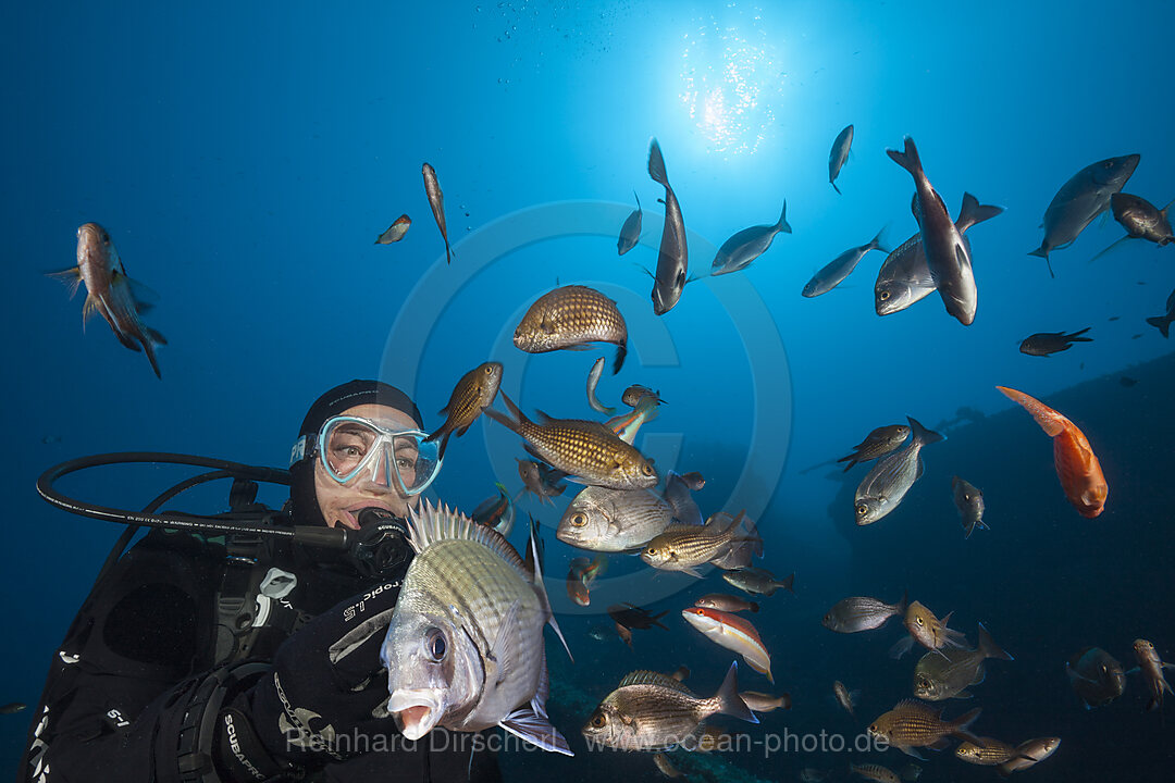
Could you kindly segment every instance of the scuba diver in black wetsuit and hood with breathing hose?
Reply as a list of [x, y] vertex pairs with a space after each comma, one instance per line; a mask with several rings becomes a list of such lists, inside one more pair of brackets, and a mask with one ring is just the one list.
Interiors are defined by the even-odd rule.
[[[255, 502], [242, 471], [208, 474], [234, 477], [217, 517], [86, 506], [42, 475], [55, 505], [150, 527], [121, 554], [127, 529], [70, 625], [18, 779], [501, 781], [484, 736], [409, 742], [385, 709], [380, 647], [411, 559], [404, 518], [441, 467], [422, 430], [394, 386], [328, 391], [288, 474], [234, 466], [288, 482], [282, 512]], [[159, 461], [118, 457], [107, 464]], [[163, 461], [234, 465], [190, 460]]]

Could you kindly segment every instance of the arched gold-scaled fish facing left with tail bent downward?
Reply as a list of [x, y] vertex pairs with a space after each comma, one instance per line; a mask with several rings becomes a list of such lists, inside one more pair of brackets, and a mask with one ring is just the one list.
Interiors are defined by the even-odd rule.
[[515, 347], [528, 353], [584, 350], [589, 343], [612, 343], [612, 373], [624, 365], [629, 328], [616, 302], [586, 285], [564, 285], [530, 305], [515, 329]]

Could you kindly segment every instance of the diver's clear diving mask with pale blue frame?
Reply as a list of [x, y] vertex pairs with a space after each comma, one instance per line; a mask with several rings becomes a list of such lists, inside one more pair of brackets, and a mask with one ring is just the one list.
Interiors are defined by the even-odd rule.
[[[336, 416], [318, 431], [316, 448], [327, 475], [342, 485], [365, 478], [419, 494], [441, 470], [436, 441], [419, 430], [389, 430], [371, 419]], [[291, 464], [306, 455], [307, 437], [294, 446]]]

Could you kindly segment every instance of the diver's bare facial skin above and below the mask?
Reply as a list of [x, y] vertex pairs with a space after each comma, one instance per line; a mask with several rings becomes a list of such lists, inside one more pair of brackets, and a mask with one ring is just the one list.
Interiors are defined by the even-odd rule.
[[[355, 416], [370, 419], [388, 430], [416, 430], [412, 417], [387, 405], [356, 405], [343, 411], [342, 416]], [[383, 474], [383, 471], [377, 473]], [[328, 527], [350, 527], [358, 529], [356, 514], [362, 508], [377, 506], [390, 511], [396, 517], [408, 517], [409, 506], [416, 506], [418, 497], [404, 495], [400, 487], [391, 486], [382, 479], [372, 478], [370, 471], [363, 471], [349, 484], [342, 485], [330, 478], [318, 457], [314, 459], [314, 488], [318, 498], [318, 509], [327, 520]]]

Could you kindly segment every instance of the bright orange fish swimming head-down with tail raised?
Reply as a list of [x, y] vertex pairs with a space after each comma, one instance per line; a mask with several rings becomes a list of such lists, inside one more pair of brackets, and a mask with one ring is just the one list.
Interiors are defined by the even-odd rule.
[[1015, 389], [996, 386], [1003, 394], [1032, 413], [1045, 434], [1053, 439], [1053, 463], [1056, 465], [1056, 477], [1061, 479], [1061, 488], [1074, 508], [1093, 519], [1106, 508], [1106, 495], [1109, 486], [1102, 475], [1101, 464], [1089, 446], [1085, 433], [1073, 421]]

